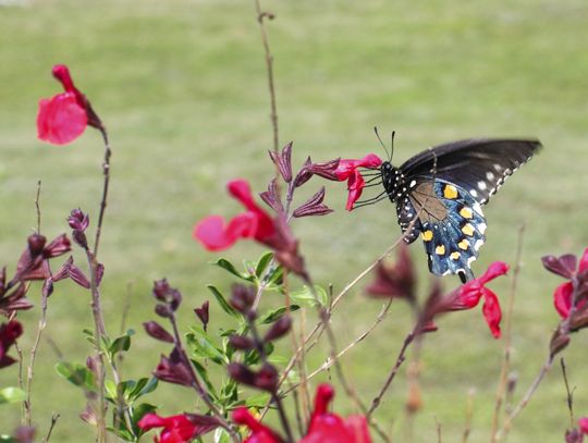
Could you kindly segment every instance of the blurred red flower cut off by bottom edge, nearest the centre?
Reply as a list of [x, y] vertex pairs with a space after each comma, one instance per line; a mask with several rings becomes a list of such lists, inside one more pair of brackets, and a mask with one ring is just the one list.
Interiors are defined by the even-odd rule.
[[317, 387], [308, 433], [301, 443], [371, 443], [365, 417], [350, 416], [343, 419], [327, 410], [333, 396], [331, 385], [320, 384]]

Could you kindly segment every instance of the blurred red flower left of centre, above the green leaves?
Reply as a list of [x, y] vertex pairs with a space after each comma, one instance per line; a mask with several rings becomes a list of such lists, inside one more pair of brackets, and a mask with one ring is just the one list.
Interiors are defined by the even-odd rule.
[[228, 185], [229, 193], [246, 208], [229, 223], [220, 216], [209, 216], [194, 226], [193, 237], [208, 250], [223, 250], [240, 238], [255, 238], [270, 244], [275, 234], [271, 217], [253, 199], [252, 189], [245, 180], [233, 180]]

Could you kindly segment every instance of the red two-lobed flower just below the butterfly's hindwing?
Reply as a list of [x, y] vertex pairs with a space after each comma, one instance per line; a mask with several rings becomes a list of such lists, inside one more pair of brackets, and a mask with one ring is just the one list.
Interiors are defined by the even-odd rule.
[[448, 310], [471, 309], [478, 306], [480, 298], [483, 296], [482, 313], [486, 322], [494, 337], [500, 337], [500, 320], [502, 312], [500, 310], [499, 299], [497, 294], [490, 291], [485, 285], [494, 280], [497, 276], [504, 275], [509, 272], [509, 264], [502, 261], [494, 261], [483, 275], [457, 288], [452, 295], [451, 304]]

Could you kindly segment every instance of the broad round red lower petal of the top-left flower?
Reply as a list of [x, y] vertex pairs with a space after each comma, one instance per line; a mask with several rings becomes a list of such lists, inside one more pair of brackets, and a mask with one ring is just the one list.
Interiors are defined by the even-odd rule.
[[41, 140], [65, 145], [79, 137], [88, 124], [86, 110], [74, 93], [62, 93], [39, 101], [37, 133]]

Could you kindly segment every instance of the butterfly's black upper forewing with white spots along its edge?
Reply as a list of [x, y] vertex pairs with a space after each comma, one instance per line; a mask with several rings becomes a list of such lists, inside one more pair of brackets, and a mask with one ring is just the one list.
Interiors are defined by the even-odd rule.
[[[467, 139], [439, 145], [408, 159], [401, 172], [408, 182], [434, 176], [454, 183], [485, 205], [504, 181], [541, 147], [538, 140]], [[437, 159], [437, 160], [436, 160]]]

